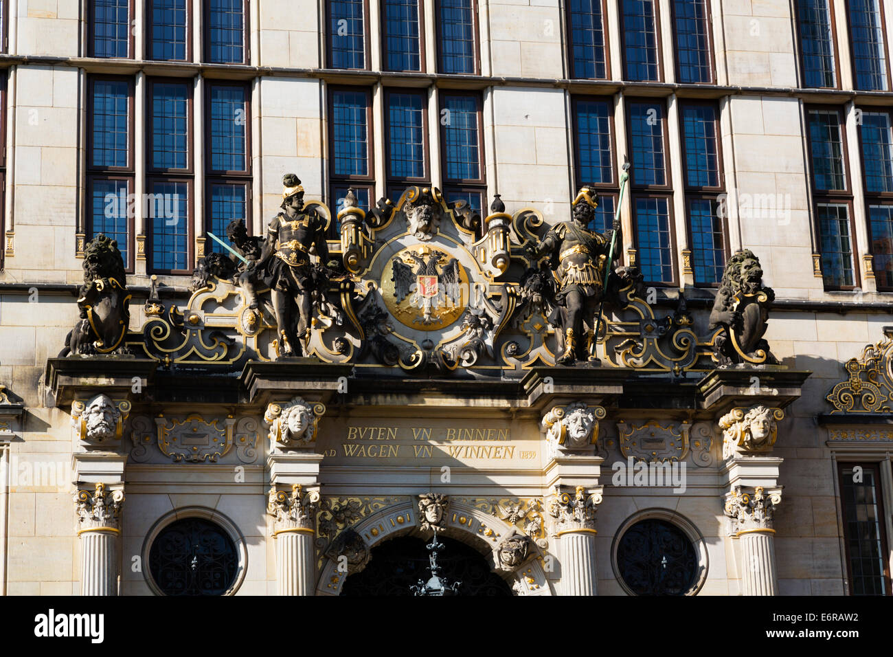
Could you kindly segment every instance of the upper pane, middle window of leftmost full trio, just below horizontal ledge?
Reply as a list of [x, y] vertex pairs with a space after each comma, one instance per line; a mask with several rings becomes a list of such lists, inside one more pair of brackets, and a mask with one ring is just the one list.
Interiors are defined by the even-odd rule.
[[189, 88], [179, 83], [152, 87], [152, 148], [155, 169], [187, 169]]

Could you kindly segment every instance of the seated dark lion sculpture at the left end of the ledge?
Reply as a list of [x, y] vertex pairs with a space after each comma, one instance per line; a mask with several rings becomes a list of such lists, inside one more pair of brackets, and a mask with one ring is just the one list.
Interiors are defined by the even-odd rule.
[[118, 242], [96, 235], [84, 248], [83, 266], [80, 319], [65, 338], [59, 356], [128, 353], [124, 337], [130, 324], [130, 294]]

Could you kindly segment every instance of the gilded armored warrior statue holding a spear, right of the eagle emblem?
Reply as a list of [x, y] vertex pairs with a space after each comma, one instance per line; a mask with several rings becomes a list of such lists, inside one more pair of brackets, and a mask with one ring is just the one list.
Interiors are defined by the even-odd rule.
[[[558, 223], [538, 245], [528, 243], [531, 257], [550, 256], [549, 266], [558, 279], [555, 310], [549, 324], [558, 329], [561, 365], [573, 365], [576, 359], [595, 361], [594, 345], [598, 303], [605, 297], [605, 274], [613, 231], [619, 231], [615, 219], [613, 231], [598, 233], [587, 226], [596, 215], [596, 190], [584, 186], [572, 203], [572, 219]], [[584, 329], [588, 329], [584, 335]], [[584, 340], [585, 338], [585, 340]]]

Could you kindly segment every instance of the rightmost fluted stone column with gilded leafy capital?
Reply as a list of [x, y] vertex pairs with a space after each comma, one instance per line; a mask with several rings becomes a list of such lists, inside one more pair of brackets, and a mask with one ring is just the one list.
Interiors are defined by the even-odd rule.
[[736, 486], [726, 495], [730, 532], [741, 547], [742, 595], [778, 595], [772, 515], [780, 502], [780, 489], [767, 493], [763, 486], [751, 492]]

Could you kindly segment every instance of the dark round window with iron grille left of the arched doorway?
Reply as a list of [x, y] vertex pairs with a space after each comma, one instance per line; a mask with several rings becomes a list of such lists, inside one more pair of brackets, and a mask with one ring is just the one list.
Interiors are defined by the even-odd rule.
[[149, 571], [165, 595], [223, 595], [236, 582], [236, 544], [220, 525], [183, 518], [164, 526], [149, 549]]

